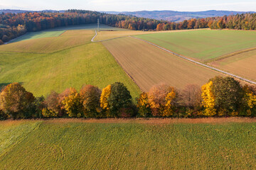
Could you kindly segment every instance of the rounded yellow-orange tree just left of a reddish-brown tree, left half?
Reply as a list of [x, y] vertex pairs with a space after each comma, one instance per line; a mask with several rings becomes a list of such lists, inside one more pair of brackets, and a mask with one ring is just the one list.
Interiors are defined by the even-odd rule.
[[82, 104], [80, 102], [80, 95], [74, 88], [70, 88], [68, 96], [65, 96], [62, 103], [69, 117], [79, 118], [82, 116]]

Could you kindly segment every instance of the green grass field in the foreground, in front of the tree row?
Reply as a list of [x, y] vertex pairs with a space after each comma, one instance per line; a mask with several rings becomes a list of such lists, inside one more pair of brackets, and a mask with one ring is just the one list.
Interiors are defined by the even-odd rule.
[[[1, 169], [254, 169], [256, 123], [0, 124]], [[148, 121], [148, 123], [147, 123]], [[191, 120], [193, 122], [193, 120]], [[194, 120], [197, 121], [197, 120]], [[18, 123], [17, 123], [18, 122]], [[115, 123], [114, 123], [115, 122]], [[218, 122], [218, 121], [217, 121]], [[3, 140], [4, 138], [4, 140]]]

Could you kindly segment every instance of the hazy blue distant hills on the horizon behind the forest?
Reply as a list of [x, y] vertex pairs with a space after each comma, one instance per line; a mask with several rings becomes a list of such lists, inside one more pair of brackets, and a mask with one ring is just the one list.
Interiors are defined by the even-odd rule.
[[112, 13], [118, 14], [123, 13], [126, 15], [132, 15], [137, 17], [144, 17], [144, 18], [153, 18], [157, 20], [165, 20], [165, 21], [173, 21], [173, 22], [180, 22], [184, 20], [188, 20], [191, 18], [207, 18], [207, 17], [214, 17], [214, 16], [229, 16], [241, 13], [255, 13], [253, 11], [244, 12], [244, 11], [200, 11], [200, 12], [180, 12], [180, 11], [134, 11], [134, 12], [116, 12], [116, 11], [107, 11], [105, 13]]

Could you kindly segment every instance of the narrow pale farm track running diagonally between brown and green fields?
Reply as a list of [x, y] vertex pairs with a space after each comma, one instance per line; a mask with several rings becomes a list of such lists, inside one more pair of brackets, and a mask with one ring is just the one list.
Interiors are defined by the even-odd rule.
[[206, 68], [208, 68], [208, 69], [213, 69], [213, 70], [215, 70], [216, 72], [221, 72], [221, 73], [223, 73], [223, 74], [227, 74], [227, 75], [229, 75], [229, 76], [231, 76], [231, 77], [235, 77], [235, 78], [240, 79], [240, 80], [242, 80], [242, 81], [246, 81], [246, 82], [248, 82], [248, 83], [250, 83], [250, 84], [256, 84], [255, 81], [250, 81], [249, 79], [245, 79], [245, 78], [239, 77], [239, 76], [237, 76], [237, 75], [235, 75], [235, 74], [231, 74], [231, 73], [229, 73], [229, 72], [225, 72], [225, 71], [223, 71], [223, 70], [221, 70], [221, 69], [216, 69], [215, 67], [210, 67], [210, 66], [208, 66], [208, 65], [206, 65], [206, 64], [203, 64], [203, 63], [201, 63], [201, 62], [196, 62], [195, 60], [191, 60], [191, 59], [189, 59], [189, 58], [187, 58], [187, 57], [183, 57], [182, 55], [178, 55], [178, 54], [176, 54], [175, 52], [172, 52], [172, 51], [170, 51], [170, 50], [167, 50], [167, 49], [165, 49], [164, 47], [160, 47], [159, 45], [156, 45], [156, 44], [154, 44], [154, 43], [152, 43], [152, 42], [149, 42], [149, 41], [146, 41], [146, 40], [142, 40], [141, 38], [136, 38], [136, 37], [133, 37], [133, 36], [129, 36], [129, 37], [130, 37], [130, 38], [137, 39], [137, 40], [141, 40], [141, 41], [146, 42], [146, 43], [148, 43], [148, 44], [150, 44], [150, 45], [154, 45], [155, 47], [157, 47], [157, 48], [159, 48], [159, 49], [161, 49], [161, 50], [164, 50], [164, 51], [166, 51], [166, 52], [169, 52], [171, 55], [175, 55], [176, 57], [180, 57], [180, 58], [182, 58], [183, 60], [188, 60], [189, 62], [193, 62], [193, 63], [195, 63], [195, 64], [201, 65], [201, 66], [206, 67]]

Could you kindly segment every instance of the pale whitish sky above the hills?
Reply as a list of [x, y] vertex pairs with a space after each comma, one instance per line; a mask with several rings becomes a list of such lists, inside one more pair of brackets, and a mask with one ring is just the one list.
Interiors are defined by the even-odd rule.
[[255, 0], [1, 0], [0, 9], [90, 11], [256, 11]]

